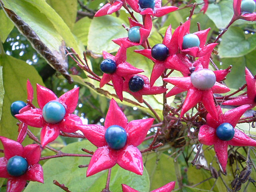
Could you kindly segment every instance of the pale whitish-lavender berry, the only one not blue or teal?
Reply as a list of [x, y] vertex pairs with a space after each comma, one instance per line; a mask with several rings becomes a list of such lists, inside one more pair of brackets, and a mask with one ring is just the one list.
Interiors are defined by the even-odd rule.
[[198, 88], [199, 90], [208, 90], [214, 86], [216, 76], [210, 69], [201, 69], [192, 72], [190, 80], [195, 88]]

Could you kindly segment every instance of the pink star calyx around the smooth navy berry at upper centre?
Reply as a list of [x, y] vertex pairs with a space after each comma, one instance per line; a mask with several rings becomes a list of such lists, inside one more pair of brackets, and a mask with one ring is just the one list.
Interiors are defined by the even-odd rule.
[[152, 49], [134, 50], [134, 52], [142, 54], [154, 62], [154, 66], [150, 76], [150, 86], [153, 86], [156, 80], [162, 75], [166, 68], [178, 70], [184, 73], [189, 73], [188, 68], [177, 55], [178, 46], [178, 31], [174, 31], [172, 35], [171, 25], [167, 28], [162, 44], [168, 48], [168, 56], [165, 60], [156, 60], [151, 55]]

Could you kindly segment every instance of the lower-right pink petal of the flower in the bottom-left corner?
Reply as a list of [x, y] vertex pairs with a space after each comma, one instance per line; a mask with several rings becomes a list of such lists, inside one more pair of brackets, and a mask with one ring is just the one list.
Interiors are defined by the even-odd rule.
[[25, 176], [26, 176], [26, 180], [44, 183], [43, 168], [38, 163], [30, 166]]

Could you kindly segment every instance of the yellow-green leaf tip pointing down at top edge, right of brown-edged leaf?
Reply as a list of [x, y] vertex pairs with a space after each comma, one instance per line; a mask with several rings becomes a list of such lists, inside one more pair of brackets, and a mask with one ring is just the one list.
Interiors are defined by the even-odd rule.
[[70, 30], [76, 21], [77, 0], [46, 0], [46, 2], [60, 15]]

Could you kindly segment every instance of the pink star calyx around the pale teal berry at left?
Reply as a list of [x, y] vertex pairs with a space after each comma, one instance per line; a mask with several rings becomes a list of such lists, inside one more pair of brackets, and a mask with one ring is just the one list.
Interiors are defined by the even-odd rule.
[[[40, 134], [42, 146], [54, 141], [60, 134], [60, 131], [68, 133], [77, 131], [74, 125], [82, 123], [82, 120], [72, 113], [76, 109], [78, 102], [79, 87], [64, 93], [60, 98], [50, 89], [39, 84], [36, 84], [36, 92], [40, 108], [27, 110], [22, 114], [15, 115], [15, 117], [30, 126], [42, 127]], [[58, 123], [48, 123], [44, 120], [42, 109], [50, 101], [59, 102], [65, 108], [64, 118]]]

